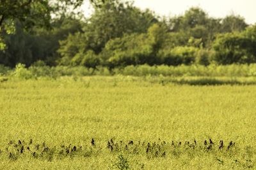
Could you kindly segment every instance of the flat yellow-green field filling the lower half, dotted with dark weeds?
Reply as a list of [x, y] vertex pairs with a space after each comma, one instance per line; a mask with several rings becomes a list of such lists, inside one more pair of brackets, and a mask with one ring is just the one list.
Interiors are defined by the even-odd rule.
[[0, 169], [255, 169], [256, 85], [184, 82], [3, 81]]

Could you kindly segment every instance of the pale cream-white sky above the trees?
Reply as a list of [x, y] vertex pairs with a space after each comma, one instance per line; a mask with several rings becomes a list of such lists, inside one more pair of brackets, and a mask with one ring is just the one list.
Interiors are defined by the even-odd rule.
[[[88, 4], [84, 4], [85, 15]], [[246, 23], [256, 23], [256, 0], [134, 0], [134, 6], [145, 10], [149, 8], [157, 15], [173, 17], [183, 15], [192, 6], [198, 6], [209, 14], [209, 17], [223, 18], [234, 13], [245, 18]]]

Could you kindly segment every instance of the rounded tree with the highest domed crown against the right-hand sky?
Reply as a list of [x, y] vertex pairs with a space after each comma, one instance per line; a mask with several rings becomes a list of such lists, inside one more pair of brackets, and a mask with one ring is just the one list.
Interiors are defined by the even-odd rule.
[[209, 47], [216, 38], [216, 34], [221, 32], [220, 21], [218, 18], [209, 17], [204, 10], [193, 7], [187, 10], [185, 15], [170, 18], [169, 29], [170, 32], [179, 32], [180, 34], [179, 41], [175, 46], [186, 45], [188, 40], [193, 37], [202, 39], [202, 45]]

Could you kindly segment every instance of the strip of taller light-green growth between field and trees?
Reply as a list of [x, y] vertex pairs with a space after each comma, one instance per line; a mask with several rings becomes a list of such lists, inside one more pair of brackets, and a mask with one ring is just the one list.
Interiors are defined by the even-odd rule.
[[[31, 66], [22, 67], [20, 69], [10, 69], [8, 67], [0, 66], [0, 74], [11, 76], [17, 75], [17, 72], [22, 70], [22, 76], [38, 78], [42, 76], [48, 76], [51, 78], [57, 78], [60, 76], [93, 76], [102, 75], [110, 76], [116, 74], [122, 74], [125, 76], [256, 76], [256, 64], [232, 64], [226, 66], [217, 66], [211, 64], [209, 66], [191, 65], [191, 66], [127, 66], [116, 67], [109, 70], [107, 67], [97, 67], [97, 69], [87, 68], [83, 66], [70, 67], [70, 66]], [[24, 75], [29, 74], [28, 76]], [[30, 76], [32, 75], [32, 76]]]

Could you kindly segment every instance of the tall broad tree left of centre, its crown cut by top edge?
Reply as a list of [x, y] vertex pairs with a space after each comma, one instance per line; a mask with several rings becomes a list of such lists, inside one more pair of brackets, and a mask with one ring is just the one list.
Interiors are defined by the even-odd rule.
[[93, 8], [95, 12], [84, 26], [84, 32], [90, 39], [89, 43], [93, 41], [95, 53], [101, 52], [109, 39], [135, 32], [145, 33], [148, 27], [158, 22], [152, 11], [141, 11], [129, 1], [96, 1]]

